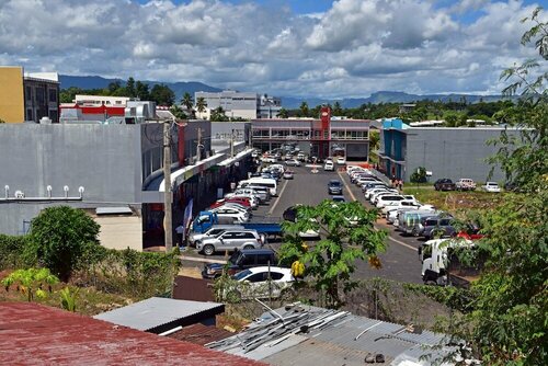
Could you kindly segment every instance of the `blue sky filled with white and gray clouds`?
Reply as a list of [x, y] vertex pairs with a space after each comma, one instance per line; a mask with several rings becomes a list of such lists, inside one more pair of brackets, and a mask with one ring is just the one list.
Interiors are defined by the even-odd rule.
[[296, 98], [498, 94], [501, 71], [536, 56], [520, 20], [541, 4], [0, 0], [0, 66]]

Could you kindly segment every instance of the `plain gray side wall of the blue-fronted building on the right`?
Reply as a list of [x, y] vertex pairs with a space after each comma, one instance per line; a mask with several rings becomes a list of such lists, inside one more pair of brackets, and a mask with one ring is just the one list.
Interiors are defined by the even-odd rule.
[[[430, 182], [439, 178], [458, 180], [470, 178], [486, 182], [491, 165], [486, 159], [494, 155], [498, 147], [488, 146], [487, 140], [499, 137], [500, 128], [410, 128], [406, 130], [407, 144], [402, 146], [406, 172], [404, 180], [418, 167], [432, 171]], [[509, 130], [509, 135], [518, 134]], [[492, 181], [503, 181], [500, 169], [493, 172]]]

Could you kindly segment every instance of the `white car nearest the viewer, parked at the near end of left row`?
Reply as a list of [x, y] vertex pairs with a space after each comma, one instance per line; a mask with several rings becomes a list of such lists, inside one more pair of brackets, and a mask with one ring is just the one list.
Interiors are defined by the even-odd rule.
[[233, 291], [241, 298], [279, 297], [295, 282], [290, 268], [276, 266], [251, 267], [237, 273], [232, 278], [238, 284], [236, 288], [229, 289], [228, 293]]

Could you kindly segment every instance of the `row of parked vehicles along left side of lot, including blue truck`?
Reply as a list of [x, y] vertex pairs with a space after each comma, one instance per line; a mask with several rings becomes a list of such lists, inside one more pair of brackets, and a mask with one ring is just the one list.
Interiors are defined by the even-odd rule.
[[[253, 222], [253, 209], [267, 205], [277, 195], [277, 183], [287, 172], [284, 165], [273, 164], [260, 173], [238, 182], [236, 190], [208, 208], [209, 225], [204, 230], [191, 235], [196, 249], [210, 255], [217, 251], [232, 252], [227, 264], [206, 263], [202, 276], [207, 279], [219, 277], [224, 271], [235, 279], [236, 285], [227, 289], [240, 298], [278, 297], [292, 287], [294, 278], [290, 270], [277, 266], [275, 252], [264, 248], [265, 232], [281, 230], [278, 222]], [[235, 216], [236, 220], [226, 222], [227, 210], [247, 214]], [[210, 214], [209, 214], [210, 213]], [[229, 294], [228, 294], [229, 293]]]

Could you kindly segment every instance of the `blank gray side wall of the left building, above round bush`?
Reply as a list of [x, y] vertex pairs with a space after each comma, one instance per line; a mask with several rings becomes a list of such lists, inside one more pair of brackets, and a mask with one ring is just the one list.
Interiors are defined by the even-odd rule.
[[[26, 197], [78, 196], [75, 207], [135, 204], [140, 206], [141, 152], [138, 125], [36, 125], [0, 124], [0, 196], [4, 185], [10, 196], [23, 191]], [[0, 232], [21, 233], [25, 220], [52, 204], [1, 202]]]

